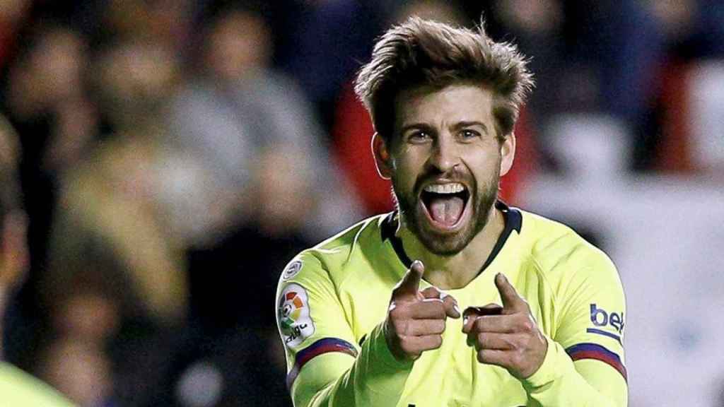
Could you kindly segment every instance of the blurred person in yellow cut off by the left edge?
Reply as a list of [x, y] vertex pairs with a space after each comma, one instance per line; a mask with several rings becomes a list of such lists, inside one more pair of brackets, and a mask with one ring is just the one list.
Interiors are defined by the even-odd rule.
[[7, 121], [0, 117], [0, 395], [2, 406], [72, 406], [69, 400], [35, 377], [2, 361], [2, 321], [9, 295], [25, 274], [25, 214], [17, 193], [17, 140]]

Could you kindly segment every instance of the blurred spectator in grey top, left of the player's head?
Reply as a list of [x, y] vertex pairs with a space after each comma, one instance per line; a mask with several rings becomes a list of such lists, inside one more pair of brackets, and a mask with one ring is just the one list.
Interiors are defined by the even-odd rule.
[[292, 80], [269, 69], [269, 28], [261, 15], [237, 7], [217, 11], [204, 39], [203, 72], [176, 96], [172, 111], [172, 142], [213, 177], [196, 185], [203, 193], [191, 197], [203, 201], [190, 209], [210, 209], [196, 240], [213, 241], [257, 211], [250, 185], [257, 163], [271, 150], [285, 155], [288, 168], [309, 182], [299, 190], [306, 196], [295, 197], [311, 201], [308, 211], [296, 212], [308, 235], [319, 237], [358, 217], [355, 198], [327, 159], [308, 102]]

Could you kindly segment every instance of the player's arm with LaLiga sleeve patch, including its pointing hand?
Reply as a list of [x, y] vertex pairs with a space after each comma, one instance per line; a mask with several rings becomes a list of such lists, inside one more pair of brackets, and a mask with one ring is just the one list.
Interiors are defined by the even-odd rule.
[[[411, 269], [392, 290], [387, 319], [358, 349], [329, 274], [314, 258], [304, 259], [302, 268], [292, 279], [282, 277], [277, 303], [295, 406], [396, 404], [414, 359], [439, 347], [448, 314], [459, 316], [454, 300], [442, 300], [430, 288], [419, 292], [421, 265]], [[296, 309], [301, 311], [295, 314]]]

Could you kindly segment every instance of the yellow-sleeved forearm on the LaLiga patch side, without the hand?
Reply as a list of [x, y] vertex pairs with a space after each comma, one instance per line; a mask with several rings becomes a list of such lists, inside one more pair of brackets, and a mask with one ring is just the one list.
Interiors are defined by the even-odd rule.
[[327, 385], [314, 382], [311, 376], [317, 366], [310, 362], [306, 377], [292, 387], [292, 397], [297, 407], [395, 406], [412, 366], [413, 362], [400, 362], [392, 356], [379, 325], [370, 332], [352, 366]]

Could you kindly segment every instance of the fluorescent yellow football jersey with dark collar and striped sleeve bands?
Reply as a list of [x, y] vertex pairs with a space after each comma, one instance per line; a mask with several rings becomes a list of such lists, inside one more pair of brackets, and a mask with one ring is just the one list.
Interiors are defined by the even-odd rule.
[[531, 377], [479, 363], [462, 319], [446, 320], [440, 348], [415, 361], [392, 356], [382, 325], [411, 265], [393, 212], [303, 251], [282, 272], [277, 322], [295, 406], [626, 406], [626, 304], [612, 261], [565, 225], [496, 206], [505, 229], [492, 253], [468, 285], [445, 293], [460, 309], [501, 304], [493, 280], [505, 274], [548, 342]]

